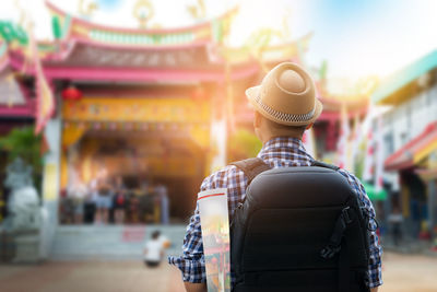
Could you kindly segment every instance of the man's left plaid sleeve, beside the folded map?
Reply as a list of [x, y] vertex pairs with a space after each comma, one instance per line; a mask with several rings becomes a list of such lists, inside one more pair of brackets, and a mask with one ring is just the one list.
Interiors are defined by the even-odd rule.
[[[229, 175], [229, 166], [206, 177], [200, 190], [226, 187]], [[203, 256], [202, 231], [197, 206], [193, 215], [187, 226], [182, 245], [182, 255], [179, 257], [168, 257], [168, 264], [176, 266], [182, 272], [185, 282], [202, 283], [206, 281], [205, 261]]]

